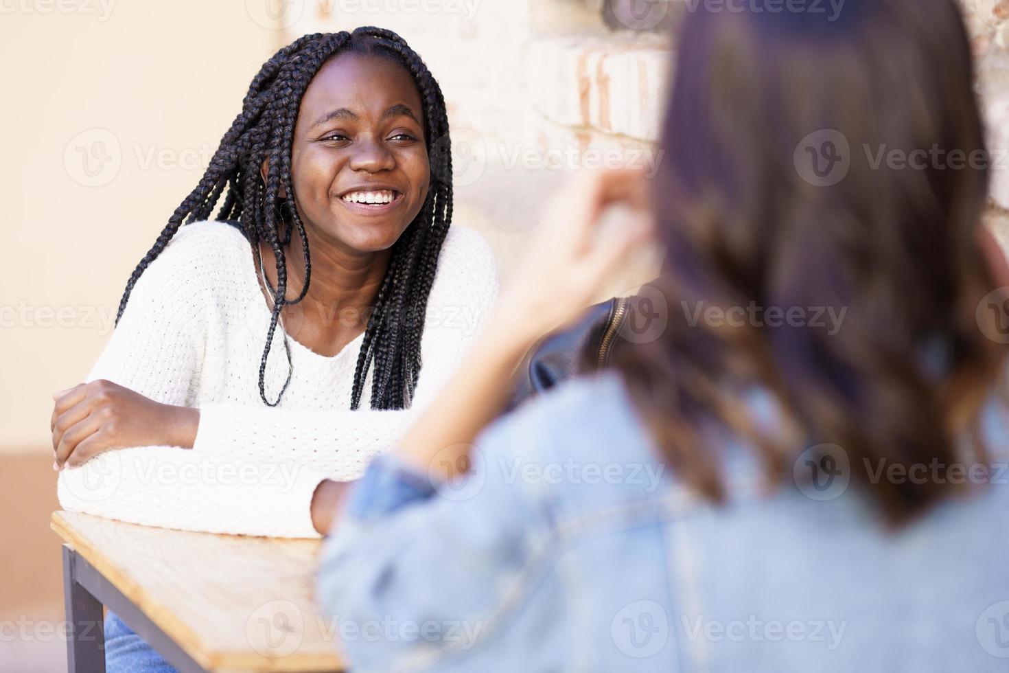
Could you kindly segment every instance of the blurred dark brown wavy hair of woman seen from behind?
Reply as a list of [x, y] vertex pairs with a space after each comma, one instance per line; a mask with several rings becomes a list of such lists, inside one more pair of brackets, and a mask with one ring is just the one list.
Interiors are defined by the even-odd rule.
[[[920, 151], [918, 167], [876, 163], [881, 149], [985, 151], [958, 7], [848, 0], [833, 19], [699, 8], [675, 64], [654, 181], [669, 325], [616, 358], [637, 409], [711, 499], [726, 486], [702, 437], [720, 428], [752, 440], [777, 483], [798, 451], [839, 445], [887, 520], [910, 520], [951, 487], [871, 483], [867, 464], [949, 465], [963, 437], [983, 460], [979, 410], [1005, 357], [976, 318], [996, 287], [978, 243], [987, 169], [949, 167], [952, 154], [923, 165]], [[847, 313], [839, 330], [691, 320], [752, 306]], [[744, 404], [755, 385], [783, 412], [770, 431]]]

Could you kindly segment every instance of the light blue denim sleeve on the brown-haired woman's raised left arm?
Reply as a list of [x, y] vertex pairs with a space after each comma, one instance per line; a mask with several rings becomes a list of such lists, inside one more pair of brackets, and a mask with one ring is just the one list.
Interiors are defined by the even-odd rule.
[[546, 537], [529, 491], [511, 478], [520, 434], [492, 426], [469, 472], [450, 483], [433, 486], [385, 455], [354, 487], [317, 587], [353, 670], [416, 671], [472, 653], [521, 603]]

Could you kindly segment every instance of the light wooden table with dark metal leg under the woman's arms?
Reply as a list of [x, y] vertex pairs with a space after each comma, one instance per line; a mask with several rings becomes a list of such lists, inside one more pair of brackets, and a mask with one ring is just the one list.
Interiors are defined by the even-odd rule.
[[102, 605], [183, 673], [335, 671], [312, 598], [315, 540], [211, 535], [52, 514], [64, 545], [70, 673], [105, 670]]

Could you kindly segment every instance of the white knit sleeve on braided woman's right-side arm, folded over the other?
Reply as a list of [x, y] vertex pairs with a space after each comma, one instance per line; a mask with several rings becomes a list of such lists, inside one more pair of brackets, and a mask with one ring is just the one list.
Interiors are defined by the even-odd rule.
[[[428, 299], [422, 370], [410, 409], [305, 411], [209, 404], [200, 408], [194, 449], [215, 455], [338, 456], [335, 479], [359, 477], [395, 446], [461, 363], [497, 298], [493, 254], [475, 232], [456, 232], [439, 259]], [[330, 463], [332, 464], [332, 463]]]

